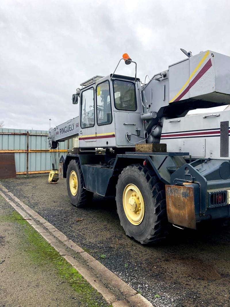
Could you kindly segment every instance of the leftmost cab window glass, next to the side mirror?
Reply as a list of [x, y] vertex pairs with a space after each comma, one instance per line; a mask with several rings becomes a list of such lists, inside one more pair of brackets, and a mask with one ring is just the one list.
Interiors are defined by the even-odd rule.
[[94, 88], [91, 87], [81, 95], [81, 127], [94, 126]]

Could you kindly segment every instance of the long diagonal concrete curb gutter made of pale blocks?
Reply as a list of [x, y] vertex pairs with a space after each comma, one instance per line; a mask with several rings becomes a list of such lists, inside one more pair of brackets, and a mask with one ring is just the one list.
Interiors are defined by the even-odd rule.
[[[5, 192], [5, 193], [3, 193]], [[17, 204], [19, 204], [24, 210], [17, 206], [7, 196], [10, 196]], [[132, 287], [126, 284], [121, 278], [107, 269], [101, 262], [85, 252], [72, 240], [69, 240], [66, 235], [59, 231], [55, 226], [47, 222], [37, 212], [24, 204], [5, 187], [0, 185], [0, 195], [24, 218], [28, 223], [40, 234], [43, 238], [56, 249], [57, 252], [63, 258], [67, 260], [86, 280], [91, 286], [93, 286], [98, 292], [102, 294], [105, 300], [112, 304], [114, 307], [153, 307], [151, 302], [144, 298], [141, 294], [137, 293]], [[29, 214], [29, 215], [28, 215]], [[38, 221], [40, 225], [37, 224]], [[50, 234], [50, 233], [51, 234]], [[59, 243], [61, 241], [61, 243]], [[63, 247], [63, 244], [71, 248], [73, 251], [79, 253], [82, 259], [87, 263], [83, 265], [78, 260], [68, 255], [67, 250]], [[97, 275], [97, 276], [96, 276]], [[106, 288], [106, 286], [98, 279], [98, 275], [102, 277], [109, 284], [111, 289], [115, 290], [115, 293], [119, 292], [125, 296], [125, 300], [119, 301], [112, 290]]]

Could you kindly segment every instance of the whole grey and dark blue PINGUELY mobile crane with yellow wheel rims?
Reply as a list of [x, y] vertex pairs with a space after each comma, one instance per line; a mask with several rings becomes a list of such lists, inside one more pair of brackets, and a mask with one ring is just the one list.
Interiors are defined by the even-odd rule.
[[[79, 148], [53, 166], [49, 181], [67, 178], [76, 207], [94, 193], [116, 196], [126, 235], [142, 244], [165, 238], [170, 224], [196, 229], [230, 217], [230, 111], [186, 116], [230, 104], [230, 57], [181, 50], [184, 60], [144, 84], [136, 69], [128, 77], [117, 67], [83, 82], [72, 96], [79, 116], [49, 130], [53, 151], [79, 136]], [[127, 53], [120, 62], [136, 68]]]

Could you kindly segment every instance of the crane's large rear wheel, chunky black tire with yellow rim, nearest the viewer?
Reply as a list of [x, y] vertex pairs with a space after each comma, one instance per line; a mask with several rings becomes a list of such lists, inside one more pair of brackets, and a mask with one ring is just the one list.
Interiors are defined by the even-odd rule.
[[165, 238], [167, 212], [164, 184], [139, 164], [129, 165], [117, 182], [117, 213], [126, 235], [141, 244]]

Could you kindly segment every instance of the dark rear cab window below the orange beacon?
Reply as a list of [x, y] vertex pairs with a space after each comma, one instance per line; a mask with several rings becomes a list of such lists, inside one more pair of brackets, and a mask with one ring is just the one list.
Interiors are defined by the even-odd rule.
[[117, 110], [136, 111], [135, 86], [132, 82], [114, 80], [113, 91]]

